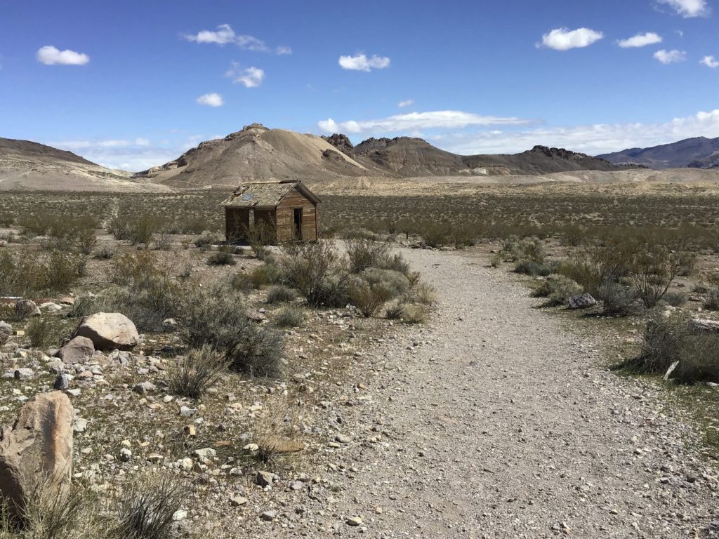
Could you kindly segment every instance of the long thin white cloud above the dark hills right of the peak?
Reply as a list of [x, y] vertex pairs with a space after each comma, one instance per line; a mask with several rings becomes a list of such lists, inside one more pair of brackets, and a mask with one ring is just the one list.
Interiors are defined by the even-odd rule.
[[462, 111], [430, 111], [396, 114], [388, 118], [366, 121], [336, 122], [329, 118], [318, 121], [319, 128], [327, 133], [396, 133], [418, 129], [462, 129], [467, 126], [488, 126], [498, 124], [522, 125], [531, 121], [498, 116], [480, 116]]

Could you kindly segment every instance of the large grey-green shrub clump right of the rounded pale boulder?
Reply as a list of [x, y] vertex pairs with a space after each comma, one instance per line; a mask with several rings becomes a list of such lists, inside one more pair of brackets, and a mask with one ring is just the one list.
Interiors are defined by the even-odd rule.
[[252, 376], [278, 374], [282, 337], [247, 319], [241, 292], [220, 282], [193, 290], [181, 303], [175, 318], [180, 322], [180, 338], [188, 346], [210, 345], [224, 354], [234, 369]]

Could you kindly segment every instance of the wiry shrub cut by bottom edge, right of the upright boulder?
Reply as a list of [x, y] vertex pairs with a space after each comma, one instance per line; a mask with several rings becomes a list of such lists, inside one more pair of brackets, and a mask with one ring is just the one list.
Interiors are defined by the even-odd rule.
[[152, 474], [142, 482], [127, 481], [116, 499], [119, 525], [117, 537], [127, 539], [169, 539], [173, 537], [173, 515], [185, 504], [190, 491], [187, 482], [165, 473]]

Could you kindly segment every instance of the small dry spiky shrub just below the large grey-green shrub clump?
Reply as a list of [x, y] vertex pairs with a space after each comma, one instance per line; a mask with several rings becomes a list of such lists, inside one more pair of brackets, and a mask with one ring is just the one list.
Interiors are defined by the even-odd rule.
[[191, 349], [168, 369], [173, 395], [199, 398], [229, 367], [226, 357], [209, 345]]

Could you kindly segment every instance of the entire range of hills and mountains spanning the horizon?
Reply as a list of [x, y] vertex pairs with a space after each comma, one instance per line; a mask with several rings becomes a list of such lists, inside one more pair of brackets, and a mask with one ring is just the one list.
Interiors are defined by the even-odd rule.
[[[413, 137], [370, 138], [354, 146], [344, 134], [317, 137], [252, 124], [224, 138], [201, 142], [164, 165], [134, 174], [109, 170], [37, 142], [0, 139], [0, 190], [221, 188], [242, 181], [295, 178], [315, 185], [337, 180], [360, 185], [367, 178], [391, 182], [395, 178], [451, 177], [463, 181], [463, 177], [523, 176], [545, 181], [553, 174], [562, 180], [585, 181], [591, 176], [615, 181], [619, 177], [608, 172], [622, 170], [626, 178], [635, 181], [646, 175], [630, 175], [638, 172], [631, 169], [648, 167], [719, 167], [719, 139], [687, 139], [598, 157], [546, 146], [514, 155], [457, 155]], [[654, 180], [659, 181], [659, 177]]]

